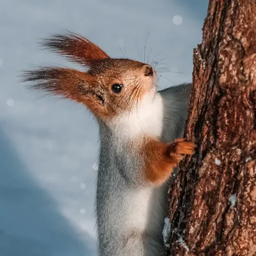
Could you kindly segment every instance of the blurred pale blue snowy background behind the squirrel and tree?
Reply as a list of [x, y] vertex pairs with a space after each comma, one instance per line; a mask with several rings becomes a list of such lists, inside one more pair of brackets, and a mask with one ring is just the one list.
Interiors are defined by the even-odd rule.
[[[20, 72], [68, 65], [38, 40], [66, 29], [113, 57], [157, 56], [160, 88], [191, 81], [207, 0], [5, 0], [0, 4], [0, 255], [96, 255], [98, 129], [83, 106], [24, 88]], [[138, 45], [138, 50], [137, 46]], [[122, 50], [122, 51], [121, 51]], [[139, 53], [138, 53], [139, 52]], [[158, 54], [158, 55], [157, 55]], [[74, 65], [70, 65], [74, 67]]]

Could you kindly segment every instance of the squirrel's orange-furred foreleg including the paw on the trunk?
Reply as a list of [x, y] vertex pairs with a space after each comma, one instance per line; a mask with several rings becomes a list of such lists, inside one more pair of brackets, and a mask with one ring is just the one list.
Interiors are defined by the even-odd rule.
[[163, 184], [180, 161], [184, 154], [191, 155], [195, 144], [177, 139], [174, 143], [163, 143], [150, 140], [145, 144], [142, 154], [145, 159], [145, 175], [147, 180], [154, 185]]

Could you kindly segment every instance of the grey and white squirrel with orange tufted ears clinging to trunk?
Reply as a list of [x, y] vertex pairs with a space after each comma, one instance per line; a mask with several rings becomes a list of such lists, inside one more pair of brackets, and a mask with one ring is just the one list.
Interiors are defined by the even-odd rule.
[[99, 124], [99, 255], [161, 255], [170, 176], [195, 148], [182, 138], [191, 84], [157, 91], [151, 65], [110, 58], [74, 33], [42, 45], [88, 68], [39, 67], [23, 75], [29, 88], [84, 104]]

